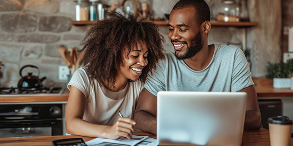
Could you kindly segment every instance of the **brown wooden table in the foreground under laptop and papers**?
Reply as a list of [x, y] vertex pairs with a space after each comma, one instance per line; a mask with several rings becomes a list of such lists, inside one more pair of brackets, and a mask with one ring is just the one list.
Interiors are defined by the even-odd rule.
[[[150, 138], [156, 138], [156, 135], [137, 132], [135, 135], [149, 135]], [[93, 137], [84, 136], [39, 136], [39, 137], [12, 137], [0, 138], [0, 146], [52, 146], [52, 141], [66, 138], [83, 138], [84, 141], [94, 139]], [[244, 131], [242, 146], [270, 146], [269, 130], [260, 128], [256, 131]], [[293, 146], [291, 138], [290, 146]]]

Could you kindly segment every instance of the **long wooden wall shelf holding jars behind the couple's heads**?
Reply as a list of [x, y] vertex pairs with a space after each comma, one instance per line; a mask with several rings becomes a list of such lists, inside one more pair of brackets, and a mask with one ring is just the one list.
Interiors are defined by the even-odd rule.
[[[156, 23], [157, 25], [160, 26], [167, 26], [168, 21], [152, 21]], [[73, 25], [91, 25], [95, 24], [97, 21], [71, 21], [71, 24]], [[210, 22], [212, 26], [234, 26], [234, 27], [252, 27], [252, 26], [257, 26], [257, 22], [217, 22], [217, 21], [211, 21]]]

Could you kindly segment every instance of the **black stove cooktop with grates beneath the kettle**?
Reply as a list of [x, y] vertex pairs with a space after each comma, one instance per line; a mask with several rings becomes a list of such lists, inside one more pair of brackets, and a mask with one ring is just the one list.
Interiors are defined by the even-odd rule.
[[44, 96], [44, 95], [61, 95], [61, 87], [41, 87], [41, 88], [0, 88], [0, 97], [2, 96]]

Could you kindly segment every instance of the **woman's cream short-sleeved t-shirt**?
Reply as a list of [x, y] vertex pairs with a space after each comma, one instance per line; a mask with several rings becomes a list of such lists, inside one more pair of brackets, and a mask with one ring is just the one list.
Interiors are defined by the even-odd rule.
[[83, 120], [107, 126], [114, 125], [120, 118], [118, 110], [124, 117], [132, 118], [139, 93], [144, 89], [143, 83], [138, 80], [128, 82], [122, 91], [109, 91], [105, 86], [101, 87], [96, 79], [88, 78], [84, 68], [73, 73], [68, 89], [69, 86], [84, 93], [86, 100]]

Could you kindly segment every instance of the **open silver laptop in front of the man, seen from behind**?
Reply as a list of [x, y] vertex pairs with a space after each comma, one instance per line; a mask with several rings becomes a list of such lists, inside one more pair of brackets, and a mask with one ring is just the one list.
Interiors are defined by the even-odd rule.
[[246, 92], [159, 91], [158, 145], [241, 146]]

